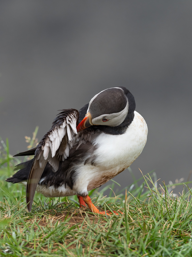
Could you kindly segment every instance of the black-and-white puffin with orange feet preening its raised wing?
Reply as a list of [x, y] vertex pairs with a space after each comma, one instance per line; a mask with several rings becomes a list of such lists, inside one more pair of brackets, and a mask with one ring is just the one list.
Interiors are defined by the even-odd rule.
[[26, 185], [28, 211], [37, 191], [51, 198], [77, 195], [80, 207], [87, 204], [91, 212], [105, 214], [88, 191], [124, 171], [141, 154], [148, 129], [135, 107], [128, 89], [114, 87], [95, 95], [79, 111], [60, 110], [35, 148], [14, 155], [34, 158], [17, 164], [18, 171], [6, 179]]

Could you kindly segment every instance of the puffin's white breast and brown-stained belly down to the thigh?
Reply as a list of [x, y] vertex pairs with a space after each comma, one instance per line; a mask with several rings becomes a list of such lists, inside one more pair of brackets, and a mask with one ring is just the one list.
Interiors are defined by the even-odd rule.
[[147, 124], [143, 117], [134, 112], [131, 125], [122, 135], [100, 133], [93, 144], [98, 146], [94, 155], [97, 166], [82, 165], [73, 188], [86, 192], [99, 187], [128, 168], [141, 154], [147, 140]]

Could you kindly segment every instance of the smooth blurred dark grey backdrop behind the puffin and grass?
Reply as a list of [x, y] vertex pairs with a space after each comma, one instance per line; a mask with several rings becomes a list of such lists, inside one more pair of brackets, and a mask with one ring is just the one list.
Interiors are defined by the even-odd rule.
[[[125, 86], [148, 125], [131, 168], [160, 182], [191, 167], [192, 1], [0, 2], [0, 136], [10, 153], [49, 130], [57, 110], [80, 109]], [[132, 183], [126, 170], [114, 178]]]

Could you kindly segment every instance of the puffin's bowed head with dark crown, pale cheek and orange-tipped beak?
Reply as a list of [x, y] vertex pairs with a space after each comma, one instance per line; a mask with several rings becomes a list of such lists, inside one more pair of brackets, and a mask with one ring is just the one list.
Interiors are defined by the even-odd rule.
[[118, 126], [134, 110], [134, 97], [125, 87], [105, 89], [89, 102], [87, 114], [77, 126], [77, 132], [92, 125]]

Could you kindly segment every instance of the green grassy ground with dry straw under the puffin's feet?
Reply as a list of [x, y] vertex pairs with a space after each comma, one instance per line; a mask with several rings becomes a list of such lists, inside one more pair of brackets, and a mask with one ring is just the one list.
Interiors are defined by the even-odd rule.
[[[29, 140], [30, 141], [30, 140]], [[109, 197], [90, 192], [101, 210], [119, 215], [94, 215], [80, 209], [77, 197], [45, 198], [36, 194], [27, 212], [25, 188], [5, 182], [18, 160], [8, 141], [0, 155], [0, 256], [192, 256], [191, 189], [179, 197], [165, 185], [156, 189], [150, 175]], [[113, 189], [114, 182], [111, 185]]]

